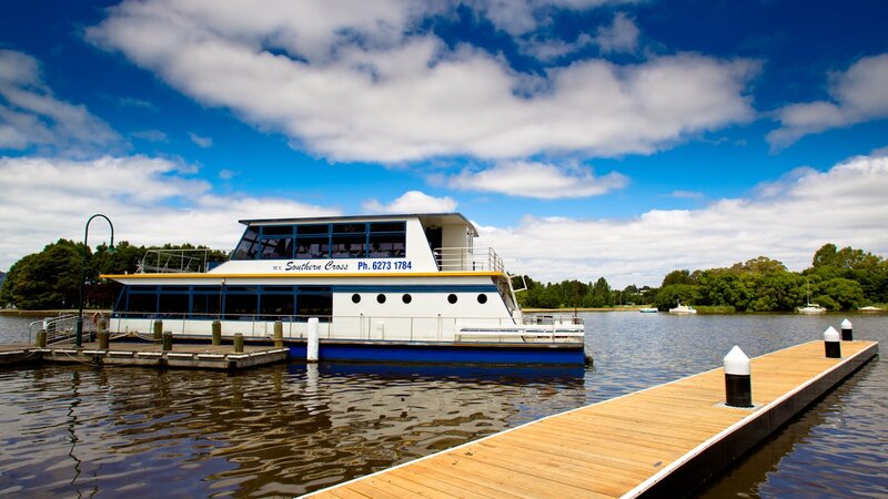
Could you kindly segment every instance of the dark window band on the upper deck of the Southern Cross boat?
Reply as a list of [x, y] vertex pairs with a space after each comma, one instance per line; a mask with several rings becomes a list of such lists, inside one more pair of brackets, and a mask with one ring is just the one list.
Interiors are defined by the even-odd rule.
[[250, 226], [232, 259], [403, 258], [406, 222]]

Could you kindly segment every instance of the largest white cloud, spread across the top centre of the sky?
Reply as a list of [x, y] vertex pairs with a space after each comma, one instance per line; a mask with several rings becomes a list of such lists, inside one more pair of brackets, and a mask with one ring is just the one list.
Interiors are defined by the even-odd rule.
[[535, 79], [500, 55], [414, 34], [425, 4], [356, 6], [124, 2], [88, 33], [191, 98], [333, 161], [652, 153], [754, 115], [754, 61], [581, 60], [525, 93]]

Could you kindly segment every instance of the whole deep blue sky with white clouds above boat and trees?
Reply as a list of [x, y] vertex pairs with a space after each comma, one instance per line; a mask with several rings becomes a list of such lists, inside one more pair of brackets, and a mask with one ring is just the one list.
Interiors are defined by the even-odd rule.
[[[461, 212], [512, 273], [657, 286], [825, 243], [888, 255], [888, 4], [141, 0], [4, 6], [0, 269], [94, 213]], [[89, 243], [107, 242], [102, 220]]]

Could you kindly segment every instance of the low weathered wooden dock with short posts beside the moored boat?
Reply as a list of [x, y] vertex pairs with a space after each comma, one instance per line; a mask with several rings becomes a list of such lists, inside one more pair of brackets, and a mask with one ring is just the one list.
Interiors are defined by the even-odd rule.
[[176, 344], [171, 350], [164, 352], [160, 344], [114, 342], [108, 349], [100, 349], [98, 343], [84, 343], [80, 349], [73, 345], [48, 348], [27, 345], [0, 347], [0, 365], [50, 361], [236, 370], [285, 361], [287, 356], [289, 348], [252, 345], [245, 345], [240, 353], [234, 352], [231, 345]]

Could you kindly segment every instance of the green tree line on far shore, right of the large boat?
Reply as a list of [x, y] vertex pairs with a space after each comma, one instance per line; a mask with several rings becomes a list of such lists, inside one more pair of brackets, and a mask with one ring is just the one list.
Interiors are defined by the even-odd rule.
[[[789, 312], [810, 299], [830, 310], [852, 310], [888, 303], [888, 259], [852, 247], [825, 244], [803, 272], [789, 272], [776, 259], [759, 256], [730, 267], [676, 269], [660, 287], [613, 289], [604, 277], [589, 283], [538, 283], [525, 276], [518, 303], [531, 308], [654, 305], [662, 310], [684, 304], [736, 312]], [[810, 298], [809, 298], [810, 296]]]

